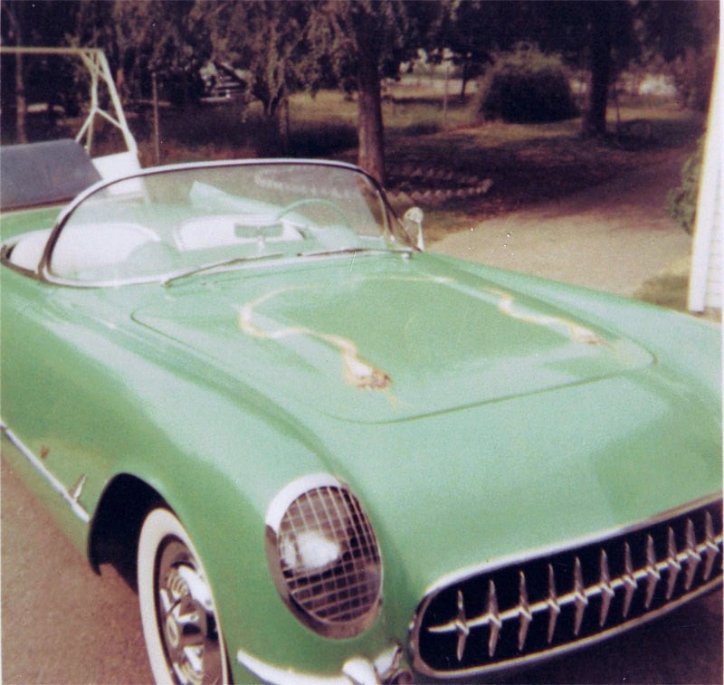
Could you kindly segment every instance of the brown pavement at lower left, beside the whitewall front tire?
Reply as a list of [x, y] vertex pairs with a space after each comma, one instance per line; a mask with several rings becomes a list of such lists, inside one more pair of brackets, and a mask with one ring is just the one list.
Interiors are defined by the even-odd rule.
[[137, 595], [111, 566], [90, 570], [5, 456], [0, 482], [0, 681], [152, 682]]

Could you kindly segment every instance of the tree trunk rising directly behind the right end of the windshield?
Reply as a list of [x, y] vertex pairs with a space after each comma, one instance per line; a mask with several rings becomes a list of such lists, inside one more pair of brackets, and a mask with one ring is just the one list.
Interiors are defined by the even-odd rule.
[[376, 36], [370, 29], [370, 22], [357, 30], [357, 52], [359, 54], [358, 118], [357, 136], [359, 152], [357, 161], [367, 174], [381, 184], [386, 182], [385, 134], [382, 123], [381, 82], [377, 60]]

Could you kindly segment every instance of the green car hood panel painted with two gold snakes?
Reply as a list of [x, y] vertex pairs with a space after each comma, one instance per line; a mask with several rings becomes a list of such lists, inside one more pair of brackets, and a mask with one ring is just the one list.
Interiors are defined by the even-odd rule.
[[618, 376], [653, 357], [425, 255], [305, 262], [167, 288], [133, 318], [281, 404], [394, 422]]

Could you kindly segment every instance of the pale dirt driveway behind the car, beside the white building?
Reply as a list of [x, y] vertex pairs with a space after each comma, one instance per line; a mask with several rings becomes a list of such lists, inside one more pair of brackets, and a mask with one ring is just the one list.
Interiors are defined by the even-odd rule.
[[685, 152], [602, 186], [453, 233], [431, 252], [631, 295], [686, 262], [691, 236], [666, 215]]

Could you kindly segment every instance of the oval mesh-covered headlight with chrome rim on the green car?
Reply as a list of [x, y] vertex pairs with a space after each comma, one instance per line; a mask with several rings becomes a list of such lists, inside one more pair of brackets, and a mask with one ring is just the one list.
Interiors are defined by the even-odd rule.
[[382, 560], [357, 498], [327, 474], [295, 480], [266, 519], [271, 576], [291, 611], [322, 635], [348, 638], [376, 618]]

